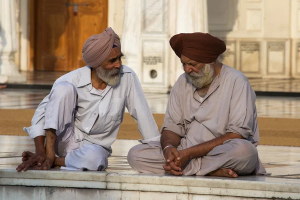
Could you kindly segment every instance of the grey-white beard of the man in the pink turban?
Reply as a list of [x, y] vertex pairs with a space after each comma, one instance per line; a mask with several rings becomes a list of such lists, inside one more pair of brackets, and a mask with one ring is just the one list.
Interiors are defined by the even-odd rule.
[[104, 70], [101, 66], [95, 68], [96, 75], [98, 78], [106, 82], [107, 84], [113, 86], [119, 82], [121, 69], [112, 68], [110, 70]]

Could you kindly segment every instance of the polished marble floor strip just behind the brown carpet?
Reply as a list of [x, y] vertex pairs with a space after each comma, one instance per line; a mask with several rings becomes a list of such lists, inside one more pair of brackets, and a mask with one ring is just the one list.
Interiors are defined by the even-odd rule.
[[[2, 109], [35, 109], [50, 90], [11, 89], [0, 90], [0, 108]], [[145, 93], [151, 111], [164, 113], [168, 94]], [[300, 118], [300, 97], [256, 96], [258, 116]]]

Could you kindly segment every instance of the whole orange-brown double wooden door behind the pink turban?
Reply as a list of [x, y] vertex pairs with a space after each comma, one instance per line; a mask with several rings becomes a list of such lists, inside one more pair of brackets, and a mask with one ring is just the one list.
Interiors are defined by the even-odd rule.
[[[74, 4], [78, 4], [75, 13]], [[107, 27], [107, 0], [37, 0], [35, 7], [35, 70], [84, 66], [84, 41]]]

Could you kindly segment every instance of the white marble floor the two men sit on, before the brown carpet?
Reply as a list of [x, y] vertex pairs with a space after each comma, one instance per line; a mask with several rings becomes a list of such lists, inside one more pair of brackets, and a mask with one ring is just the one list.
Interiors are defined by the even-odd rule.
[[[137, 140], [117, 139], [111, 146], [113, 152], [106, 170], [133, 170], [126, 155], [136, 144]], [[261, 162], [272, 173], [269, 177], [294, 178], [300, 183], [300, 147], [258, 145], [257, 148]], [[0, 169], [14, 169], [21, 162], [24, 150], [35, 151], [29, 136], [0, 135]]]

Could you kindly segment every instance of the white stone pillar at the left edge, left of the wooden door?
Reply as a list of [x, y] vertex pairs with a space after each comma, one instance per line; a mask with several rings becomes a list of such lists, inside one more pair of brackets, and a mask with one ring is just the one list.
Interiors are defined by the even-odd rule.
[[17, 51], [14, 0], [0, 0], [0, 83], [23, 82], [13, 54]]

